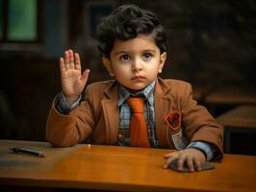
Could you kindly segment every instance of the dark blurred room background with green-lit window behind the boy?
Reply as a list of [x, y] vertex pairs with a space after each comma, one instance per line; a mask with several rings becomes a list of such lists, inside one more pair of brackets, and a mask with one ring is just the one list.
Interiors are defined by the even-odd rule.
[[255, 107], [254, 0], [0, 0], [0, 138], [45, 141], [46, 118], [61, 91], [64, 50], [80, 53], [83, 68], [91, 70], [89, 83], [110, 79], [95, 26], [125, 3], [155, 12], [166, 28], [162, 77], [190, 82], [194, 99], [215, 117], [240, 105]]

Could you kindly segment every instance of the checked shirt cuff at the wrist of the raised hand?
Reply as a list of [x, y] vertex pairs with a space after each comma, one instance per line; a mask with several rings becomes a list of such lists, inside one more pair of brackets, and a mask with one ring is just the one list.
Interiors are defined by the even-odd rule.
[[59, 99], [57, 100], [56, 108], [62, 114], [68, 114], [71, 110], [76, 108], [81, 100], [81, 95], [77, 98], [77, 100], [71, 105], [68, 106], [66, 99], [64, 97], [64, 93], [61, 92]]

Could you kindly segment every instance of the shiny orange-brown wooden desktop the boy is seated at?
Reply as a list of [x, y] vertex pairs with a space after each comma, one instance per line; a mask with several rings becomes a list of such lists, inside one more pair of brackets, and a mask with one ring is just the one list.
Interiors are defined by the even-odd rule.
[[[29, 146], [46, 157], [16, 155]], [[169, 150], [0, 140], [0, 185], [119, 191], [255, 191], [256, 156], [225, 155], [214, 170], [181, 174], [163, 169]]]

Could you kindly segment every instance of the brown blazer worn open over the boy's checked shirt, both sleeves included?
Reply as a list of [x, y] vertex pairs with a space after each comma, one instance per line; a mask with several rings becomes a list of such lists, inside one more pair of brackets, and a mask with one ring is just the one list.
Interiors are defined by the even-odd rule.
[[[192, 99], [191, 84], [158, 78], [154, 96], [156, 133], [161, 148], [182, 149], [188, 142], [205, 141], [217, 147], [216, 158], [222, 157], [223, 129], [206, 108]], [[55, 146], [72, 146], [88, 139], [92, 144], [116, 145], [117, 101], [115, 81], [88, 85], [85, 100], [68, 115], [58, 112], [55, 99], [47, 119], [46, 139]], [[173, 110], [182, 113], [182, 126], [175, 131], [165, 120]]]

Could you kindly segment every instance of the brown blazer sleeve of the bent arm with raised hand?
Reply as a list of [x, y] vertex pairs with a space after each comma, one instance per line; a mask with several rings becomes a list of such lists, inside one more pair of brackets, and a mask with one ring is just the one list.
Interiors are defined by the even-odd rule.
[[56, 108], [57, 99], [58, 96], [46, 121], [46, 139], [58, 147], [72, 146], [87, 139], [95, 124], [89, 100], [86, 98], [77, 108], [62, 114]]

